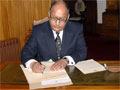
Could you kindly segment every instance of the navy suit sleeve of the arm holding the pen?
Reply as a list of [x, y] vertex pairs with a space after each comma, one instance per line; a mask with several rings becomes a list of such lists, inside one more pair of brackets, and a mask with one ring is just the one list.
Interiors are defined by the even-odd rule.
[[34, 27], [33, 27], [32, 31], [33, 31], [32, 35], [31, 35], [30, 39], [28, 40], [28, 42], [26, 43], [26, 45], [23, 47], [22, 53], [21, 53], [21, 61], [24, 66], [28, 60], [34, 59], [38, 52], [37, 51], [38, 50], [37, 49], [37, 40], [36, 40], [37, 32]]

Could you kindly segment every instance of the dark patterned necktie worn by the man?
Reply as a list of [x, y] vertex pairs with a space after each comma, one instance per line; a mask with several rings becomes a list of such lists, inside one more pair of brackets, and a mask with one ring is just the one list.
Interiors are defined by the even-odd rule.
[[60, 52], [61, 52], [61, 39], [59, 36], [59, 32], [56, 32], [57, 37], [56, 37], [56, 48], [57, 48], [57, 57], [58, 60], [60, 59]]

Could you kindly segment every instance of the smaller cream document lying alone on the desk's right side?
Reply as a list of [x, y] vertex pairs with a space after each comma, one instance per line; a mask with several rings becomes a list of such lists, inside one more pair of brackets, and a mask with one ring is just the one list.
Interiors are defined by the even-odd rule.
[[104, 66], [93, 59], [80, 61], [75, 65], [82, 73], [89, 74], [106, 70]]

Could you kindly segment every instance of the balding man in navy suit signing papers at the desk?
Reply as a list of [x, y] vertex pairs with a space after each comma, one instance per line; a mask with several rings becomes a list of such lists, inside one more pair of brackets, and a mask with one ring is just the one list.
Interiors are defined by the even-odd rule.
[[[49, 11], [49, 21], [33, 27], [33, 32], [22, 50], [22, 63], [33, 72], [41, 73], [45, 66], [39, 61], [52, 59], [51, 70], [61, 70], [86, 58], [83, 26], [68, 21], [69, 10], [65, 2], [54, 2]], [[35, 60], [39, 55], [40, 60]]]

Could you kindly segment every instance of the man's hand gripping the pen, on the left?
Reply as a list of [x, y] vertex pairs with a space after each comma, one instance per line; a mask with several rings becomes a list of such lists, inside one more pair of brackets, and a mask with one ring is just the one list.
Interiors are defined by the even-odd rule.
[[42, 65], [39, 62], [33, 62], [30, 64], [30, 68], [35, 73], [42, 73], [45, 69], [45, 65]]

